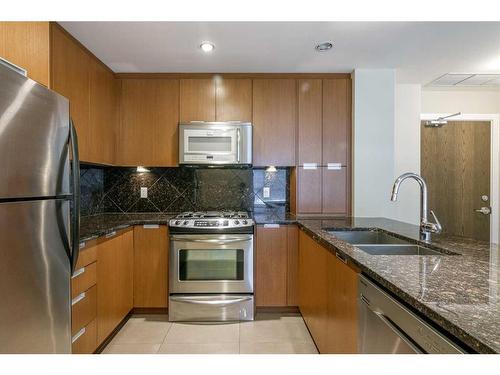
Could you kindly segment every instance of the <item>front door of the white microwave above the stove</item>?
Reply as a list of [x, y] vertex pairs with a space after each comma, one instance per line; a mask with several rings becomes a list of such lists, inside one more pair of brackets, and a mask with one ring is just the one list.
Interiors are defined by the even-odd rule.
[[236, 164], [239, 162], [237, 127], [184, 128], [184, 162]]

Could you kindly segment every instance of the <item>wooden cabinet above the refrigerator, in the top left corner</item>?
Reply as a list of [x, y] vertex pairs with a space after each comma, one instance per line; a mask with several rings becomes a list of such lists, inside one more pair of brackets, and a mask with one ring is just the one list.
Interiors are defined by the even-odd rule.
[[0, 22], [0, 56], [26, 69], [28, 77], [47, 87], [49, 47], [49, 22]]

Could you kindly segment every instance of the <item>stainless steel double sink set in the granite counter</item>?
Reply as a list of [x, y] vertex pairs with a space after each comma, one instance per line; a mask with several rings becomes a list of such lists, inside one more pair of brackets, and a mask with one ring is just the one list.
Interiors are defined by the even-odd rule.
[[380, 230], [325, 230], [371, 255], [458, 255], [417, 245]]

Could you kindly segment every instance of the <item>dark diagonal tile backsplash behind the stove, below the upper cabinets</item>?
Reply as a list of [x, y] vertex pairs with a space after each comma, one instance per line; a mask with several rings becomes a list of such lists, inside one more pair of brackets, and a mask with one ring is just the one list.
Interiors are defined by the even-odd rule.
[[[289, 204], [289, 169], [81, 166], [82, 216], [105, 212], [179, 212]], [[141, 187], [148, 197], [141, 198]], [[264, 187], [269, 197], [264, 198]]]

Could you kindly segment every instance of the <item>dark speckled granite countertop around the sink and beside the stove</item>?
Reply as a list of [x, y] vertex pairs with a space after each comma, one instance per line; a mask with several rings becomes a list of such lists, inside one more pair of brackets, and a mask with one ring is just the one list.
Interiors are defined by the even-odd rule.
[[[100, 214], [81, 219], [81, 241], [132, 225], [167, 224], [176, 213]], [[433, 235], [429, 247], [459, 255], [370, 255], [325, 229], [380, 229], [419, 240], [418, 226], [384, 218], [296, 217], [284, 209], [253, 213], [256, 224], [298, 224], [323, 245], [348, 257], [399, 299], [472, 350], [500, 353], [500, 247]]]

